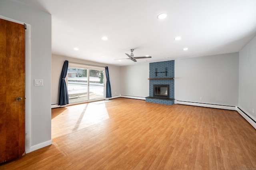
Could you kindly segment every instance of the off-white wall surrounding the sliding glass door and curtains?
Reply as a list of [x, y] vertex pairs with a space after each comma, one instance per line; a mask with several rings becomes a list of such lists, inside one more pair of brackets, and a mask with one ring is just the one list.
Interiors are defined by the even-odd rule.
[[52, 105], [58, 104], [59, 79], [65, 60], [68, 60], [69, 62], [98, 65], [102, 67], [108, 66], [112, 97], [115, 95], [120, 95], [120, 67], [52, 54]]

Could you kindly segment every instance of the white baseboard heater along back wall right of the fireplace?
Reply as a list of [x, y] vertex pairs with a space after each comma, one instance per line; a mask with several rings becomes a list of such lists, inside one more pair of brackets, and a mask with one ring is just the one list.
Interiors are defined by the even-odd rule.
[[225, 106], [225, 105], [215, 105], [215, 104], [208, 104], [208, 103], [196, 103], [196, 102], [188, 102], [188, 101], [175, 101], [175, 104], [181, 105], [191, 105], [191, 106], [199, 106], [199, 107], [210, 107], [215, 109], [226, 109], [226, 110], [233, 110], [236, 111], [235, 106]]

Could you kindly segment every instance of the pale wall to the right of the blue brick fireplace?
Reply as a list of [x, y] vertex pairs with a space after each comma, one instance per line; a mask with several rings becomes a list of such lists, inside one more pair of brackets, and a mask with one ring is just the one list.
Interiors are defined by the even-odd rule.
[[178, 101], [238, 106], [238, 53], [177, 59], [174, 84]]

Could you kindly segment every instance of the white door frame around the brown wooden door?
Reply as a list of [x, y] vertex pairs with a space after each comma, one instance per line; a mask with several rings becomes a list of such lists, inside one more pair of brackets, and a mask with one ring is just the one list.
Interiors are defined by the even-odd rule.
[[30, 24], [13, 20], [5, 16], [1, 16], [3, 20], [15, 22], [18, 24], [26, 24], [25, 33], [25, 153], [32, 152], [31, 150], [31, 26]]

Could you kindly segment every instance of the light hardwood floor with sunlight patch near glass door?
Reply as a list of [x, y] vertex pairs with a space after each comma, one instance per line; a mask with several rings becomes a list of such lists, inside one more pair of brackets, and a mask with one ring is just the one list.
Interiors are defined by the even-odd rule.
[[236, 111], [111, 101], [52, 109], [53, 144], [0, 169], [256, 168], [256, 130]]

